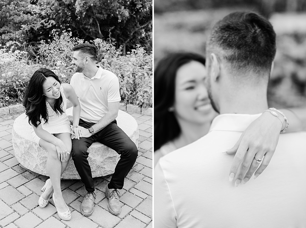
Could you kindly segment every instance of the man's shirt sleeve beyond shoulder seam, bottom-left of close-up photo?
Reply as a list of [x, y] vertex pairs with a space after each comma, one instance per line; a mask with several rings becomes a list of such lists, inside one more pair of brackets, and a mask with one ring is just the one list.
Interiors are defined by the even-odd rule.
[[177, 214], [168, 183], [159, 163], [154, 169], [154, 227], [177, 228]]

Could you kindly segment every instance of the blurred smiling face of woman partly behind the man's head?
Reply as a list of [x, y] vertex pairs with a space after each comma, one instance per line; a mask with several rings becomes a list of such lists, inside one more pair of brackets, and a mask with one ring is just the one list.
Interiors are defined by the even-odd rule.
[[178, 68], [175, 79], [174, 114], [178, 121], [203, 124], [215, 117], [208, 98], [205, 66], [191, 61]]

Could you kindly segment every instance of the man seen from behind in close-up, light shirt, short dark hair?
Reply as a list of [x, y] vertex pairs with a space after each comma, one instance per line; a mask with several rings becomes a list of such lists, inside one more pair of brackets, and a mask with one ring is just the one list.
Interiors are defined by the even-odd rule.
[[[215, 24], [206, 46], [207, 90], [221, 115], [207, 135], [156, 165], [154, 227], [306, 227], [306, 132], [281, 134], [256, 180], [231, 176], [234, 156], [222, 153], [268, 108], [275, 37], [256, 13], [231, 13]], [[250, 157], [252, 166], [267, 165], [266, 152]]]

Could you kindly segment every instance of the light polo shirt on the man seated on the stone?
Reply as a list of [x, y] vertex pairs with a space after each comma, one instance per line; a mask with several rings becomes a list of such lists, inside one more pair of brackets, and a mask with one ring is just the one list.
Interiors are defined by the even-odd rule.
[[97, 123], [107, 112], [108, 102], [121, 101], [118, 77], [101, 68], [91, 79], [83, 73], [75, 73], [70, 85], [79, 97], [81, 105], [80, 118], [91, 123]]

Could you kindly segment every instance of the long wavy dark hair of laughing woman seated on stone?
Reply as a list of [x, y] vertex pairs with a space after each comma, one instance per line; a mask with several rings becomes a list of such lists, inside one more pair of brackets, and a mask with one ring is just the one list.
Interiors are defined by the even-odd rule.
[[[46, 106], [46, 97], [43, 96], [43, 83], [46, 81], [47, 77], [53, 77], [59, 83], [60, 80], [58, 76], [54, 74], [53, 71], [46, 68], [40, 68], [35, 71], [32, 75], [27, 91], [24, 95], [23, 106], [25, 108], [25, 114], [29, 117], [29, 123], [38, 127], [41, 120], [44, 119], [48, 123], [48, 112]], [[61, 107], [63, 102], [62, 94], [58, 99], [55, 99], [54, 110], [56, 114], [63, 114], [63, 109]]]

